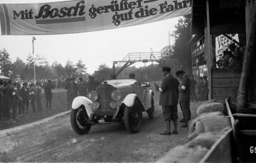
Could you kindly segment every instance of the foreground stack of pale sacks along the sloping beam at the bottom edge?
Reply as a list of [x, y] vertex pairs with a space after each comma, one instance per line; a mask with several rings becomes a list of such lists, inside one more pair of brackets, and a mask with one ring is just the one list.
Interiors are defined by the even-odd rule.
[[157, 162], [200, 162], [213, 144], [227, 130], [228, 128], [224, 128], [220, 132], [201, 133], [186, 145], [174, 147]]

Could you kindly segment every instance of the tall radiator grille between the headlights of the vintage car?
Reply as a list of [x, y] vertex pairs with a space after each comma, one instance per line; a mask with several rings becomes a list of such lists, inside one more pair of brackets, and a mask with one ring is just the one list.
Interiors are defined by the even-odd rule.
[[113, 101], [111, 99], [111, 93], [114, 90], [114, 86], [111, 86], [110, 84], [101, 84], [97, 87], [96, 91], [99, 95], [97, 101], [100, 103], [100, 107], [97, 111], [114, 111], [114, 109], [110, 107], [110, 102]]

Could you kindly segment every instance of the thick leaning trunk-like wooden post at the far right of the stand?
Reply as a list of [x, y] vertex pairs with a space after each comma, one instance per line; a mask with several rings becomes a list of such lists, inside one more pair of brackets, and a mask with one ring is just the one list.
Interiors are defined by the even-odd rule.
[[[246, 5], [250, 0], [247, 0]], [[249, 9], [247, 6], [245, 9]], [[256, 3], [254, 2], [252, 6], [251, 14], [247, 13], [245, 17], [246, 25], [250, 27], [246, 27], [247, 33], [247, 43], [245, 48], [245, 59], [242, 65], [242, 75], [240, 79], [240, 85], [238, 90], [238, 103], [235, 108], [236, 113], [241, 112], [241, 108], [245, 107], [247, 103], [247, 91], [248, 85], [250, 81], [250, 74], [252, 73], [252, 63], [253, 63], [253, 55], [255, 55], [255, 45], [256, 45]]]

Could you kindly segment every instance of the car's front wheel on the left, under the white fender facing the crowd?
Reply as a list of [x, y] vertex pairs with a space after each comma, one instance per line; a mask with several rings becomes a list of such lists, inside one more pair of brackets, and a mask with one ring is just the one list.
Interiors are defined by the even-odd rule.
[[75, 133], [78, 133], [79, 135], [87, 134], [92, 127], [88, 120], [89, 118], [85, 108], [80, 107], [71, 111], [70, 122]]

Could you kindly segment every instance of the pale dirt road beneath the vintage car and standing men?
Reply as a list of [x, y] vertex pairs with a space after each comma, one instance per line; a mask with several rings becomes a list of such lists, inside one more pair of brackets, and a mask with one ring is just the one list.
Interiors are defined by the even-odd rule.
[[[92, 126], [88, 135], [77, 135], [69, 114], [9, 133], [2, 130], [0, 162], [154, 162], [185, 143], [188, 132], [188, 128], [178, 128], [178, 135], [159, 135], [166, 127], [157, 104], [159, 94], [154, 99], [155, 118], [149, 120], [144, 114], [136, 134], [128, 133], [124, 125], [104, 125]], [[191, 110], [198, 105], [191, 103]]]

